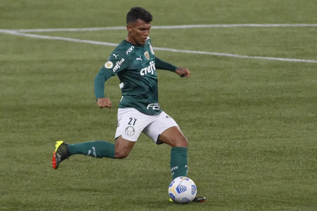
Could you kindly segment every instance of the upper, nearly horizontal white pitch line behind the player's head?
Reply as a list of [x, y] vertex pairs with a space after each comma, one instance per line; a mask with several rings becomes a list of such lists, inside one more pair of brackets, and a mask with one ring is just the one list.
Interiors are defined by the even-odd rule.
[[[232, 28], [232, 27], [317, 27], [317, 24], [209, 24], [209, 25], [179, 25], [179, 26], [153, 26], [151, 29], [178, 29], [178, 28]], [[57, 32], [57, 31], [100, 31], [120, 30], [125, 26], [100, 28], [44, 28], [44, 29], [17, 29], [17, 32]]]

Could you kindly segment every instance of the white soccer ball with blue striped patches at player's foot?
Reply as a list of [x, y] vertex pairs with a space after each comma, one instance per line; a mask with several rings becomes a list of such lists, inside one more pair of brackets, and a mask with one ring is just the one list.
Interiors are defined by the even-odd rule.
[[168, 187], [168, 194], [174, 202], [184, 204], [193, 201], [197, 187], [188, 177], [176, 177]]

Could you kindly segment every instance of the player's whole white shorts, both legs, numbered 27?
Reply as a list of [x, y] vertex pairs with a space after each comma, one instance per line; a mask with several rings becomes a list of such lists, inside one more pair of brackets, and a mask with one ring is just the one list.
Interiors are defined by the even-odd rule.
[[166, 129], [177, 126], [173, 118], [164, 111], [159, 115], [146, 115], [137, 109], [118, 109], [118, 127], [115, 139], [122, 135], [122, 138], [129, 141], [137, 141], [141, 132], [150, 137], [155, 143], [159, 135]]

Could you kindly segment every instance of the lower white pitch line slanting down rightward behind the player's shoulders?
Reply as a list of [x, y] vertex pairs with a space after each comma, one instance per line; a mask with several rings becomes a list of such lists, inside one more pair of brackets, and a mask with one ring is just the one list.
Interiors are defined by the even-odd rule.
[[[32, 37], [32, 38], [38, 38], [38, 39], [64, 40], [64, 41], [70, 41], [70, 42], [81, 42], [81, 43], [89, 43], [89, 44], [104, 45], [104, 46], [114, 46], [115, 47], [118, 45], [116, 43], [110, 43], [110, 42], [99, 42], [99, 41], [93, 41], [93, 40], [80, 40], [80, 39], [67, 38], [67, 37], [44, 36], [44, 35], [37, 35], [37, 34], [25, 34], [25, 33], [20, 33], [17, 31], [3, 30], [3, 29], [0, 29], [0, 33], [12, 34], [12, 35], [24, 36], [24, 37]], [[275, 57], [263, 57], [263, 56], [246, 56], [246, 55], [237, 55], [237, 54], [230, 54], [230, 53], [189, 51], [189, 50], [178, 50], [178, 49], [160, 48], [160, 47], [154, 47], [153, 49], [156, 51], [206, 54], [206, 55], [214, 55], [214, 56], [236, 57], [236, 58], [243, 58], [243, 59], [266, 59], [266, 60], [276, 60], [276, 61], [317, 63], [317, 60], [307, 60], [307, 59], [288, 59], [288, 58], [275, 58]]]

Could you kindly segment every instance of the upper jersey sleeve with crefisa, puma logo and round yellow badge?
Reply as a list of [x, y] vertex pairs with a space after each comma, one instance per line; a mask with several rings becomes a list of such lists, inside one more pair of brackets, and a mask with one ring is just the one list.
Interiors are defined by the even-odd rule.
[[129, 61], [127, 59], [126, 51], [120, 49], [111, 53], [108, 61], [103, 67], [105, 71], [108, 71], [115, 76], [116, 73], [125, 70], [128, 66]]

